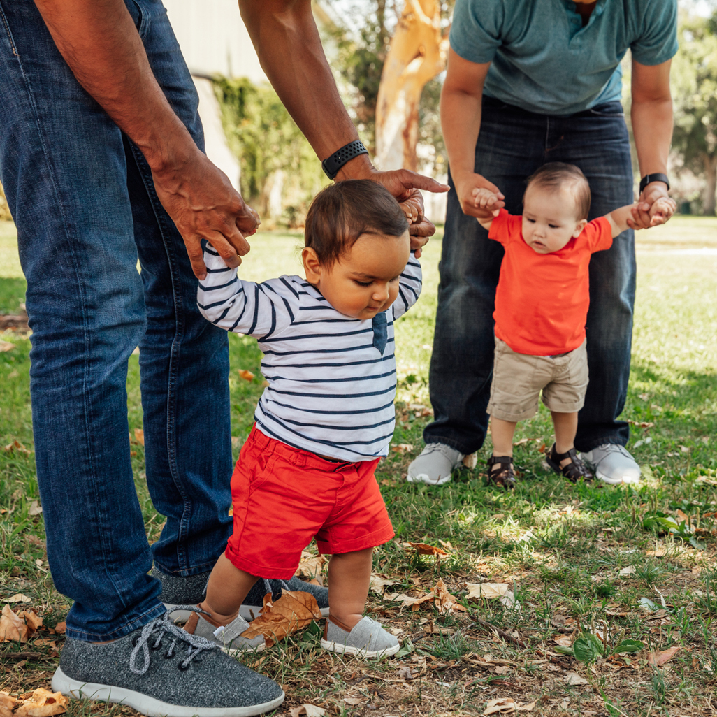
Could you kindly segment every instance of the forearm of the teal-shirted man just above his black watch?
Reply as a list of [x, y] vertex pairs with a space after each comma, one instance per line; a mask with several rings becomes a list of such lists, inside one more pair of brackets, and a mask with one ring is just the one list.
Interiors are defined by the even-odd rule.
[[640, 176], [667, 174], [673, 133], [672, 99], [633, 100], [631, 117]]

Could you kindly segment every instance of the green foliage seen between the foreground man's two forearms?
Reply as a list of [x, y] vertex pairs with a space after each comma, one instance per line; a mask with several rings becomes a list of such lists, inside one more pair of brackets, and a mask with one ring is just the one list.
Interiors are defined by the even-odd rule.
[[315, 152], [269, 85], [217, 77], [214, 88], [229, 147], [242, 169], [242, 196], [265, 216], [267, 180], [283, 171], [283, 219], [292, 226], [328, 184]]

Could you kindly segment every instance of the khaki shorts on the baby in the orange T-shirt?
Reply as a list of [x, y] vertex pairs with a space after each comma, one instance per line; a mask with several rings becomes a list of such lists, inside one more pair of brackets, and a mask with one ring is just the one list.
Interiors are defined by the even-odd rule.
[[531, 356], [516, 353], [496, 336], [487, 410], [503, 421], [524, 421], [536, 414], [542, 389], [551, 411], [573, 413], [585, 403], [587, 381], [585, 341], [562, 356]]

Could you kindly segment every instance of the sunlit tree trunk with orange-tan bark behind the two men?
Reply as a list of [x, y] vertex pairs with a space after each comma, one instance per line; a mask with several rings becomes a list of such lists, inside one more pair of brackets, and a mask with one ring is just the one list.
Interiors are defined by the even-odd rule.
[[376, 103], [376, 163], [416, 169], [418, 108], [423, 86], [445, 67], [440, 0], [406, 0], [381, 74]]

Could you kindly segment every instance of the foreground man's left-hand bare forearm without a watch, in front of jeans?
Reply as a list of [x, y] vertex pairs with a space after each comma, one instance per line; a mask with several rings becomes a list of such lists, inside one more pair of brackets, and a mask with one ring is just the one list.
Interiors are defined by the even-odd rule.
[[155, 171], [196, 146], [159, 87], [123, 0], [35, 0], [80, 85]]

